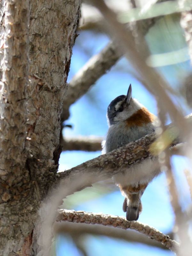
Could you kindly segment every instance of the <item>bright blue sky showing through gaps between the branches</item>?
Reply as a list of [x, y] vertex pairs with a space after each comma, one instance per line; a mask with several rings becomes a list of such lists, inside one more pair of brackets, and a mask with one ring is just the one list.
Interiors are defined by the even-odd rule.
[[[90, 31], [82, 31], [78, 36], [76, 44], [73, 48], [68, 82], [72, 76], [86, 63], [86, 61], [89, 60], [93, 54], [99, 52], [107, 43], [108, 37], [106, 35], [99, 33], [95, 34]], [[163, 46], [161, 45], [162, 51], [165, 50], [165, 47]], [[155, 52], [155, 49], [153, 49], [153, 52]], [[166, 68], [159, 68], [159, 70], [165, 75], [165, 78], [173, 87], [178, 87], [180, 81], [179, 79], [181, 79], [179, 75], [177, 77], [178, 68], [189, 70], [189, 66], [189, 62], [187, 61], [176, 66], [172, 65], [167, 66]], [[95, 135], [104, 137], [108, 130], [106, 120], [106, 110], [108, 104], [118, 95], [126, 94], [130, 83], [132, 84], [133, 97], [137, 98], [145, 107], [149, 109], [150, 112], [157, 115], [156, 101], [154, 97], [148, 93], [142, 84], [140, 84], [140, 82], [138, 82], [130, 74], [130, 69], [130, 63], [128, 63], [124, 58], [121, 59], [115, 67], [113, 67], [106, 75], [102, 76], [98, 82], [92, 86], [87, 94], [85, 94], [71, 106], [70, 117], [66, 121], [66, 124], [71, 124], [73, 128], [66, 128], [63, 132], [64, 136]], [[182, 99], [178, 100], [180, 100], [180, 104], [182, 104]], [[184, 108], [184, 112], [188, 113], [189, 109]], [[99, 151], [62, 152], [59, 170], [64, 171], [65, 169], [69, 169], [99, 155]], [[184, 168], [188, 168], [186, 159], [182, 157], [174, 157], [173, 169], [176, 175], [180, 175], [180, 171]], [[186, 182], [184, 177], [182, 179], [183, 182]], [[184, 189], [184, 191], [182, 191], [180, 194], [181, 204], [185, 209], [190, 203], [187, 189]], [[102, 197], [98, 196], [98, 198], [88, 200], [81, 204], [78, 204], [77, 202], [74, 208], [75, 210], [84, 210], [87, 212], [103, 212], [106, 214], [125, 216], [122, 210], [123, 200], [124, 198], [121, 193], [116, 190], [110, 194], [105, 194]], [[165, 233], [172, 230], [174, 225], [174, 215], [169, 200], [169, 193], [167, 191], [164, 173], [149, 184], [142, 196], [142, 204], [143, 212], [139, 218], [140, 222], [153, 226]], [[173, 253], [170, 251], [148, 247], [141, 244], [125, 243], [108, 237], [90, 236], [85, 240], [87, 244], [87, 252], [90, 256], [113, 256], [120, 254], [131, 254], [132, 256], [173, 255]], [[56, 251], [57, 256], [81, 255], [74, 247], [71, 239], [67, 236], [58, 237]]]

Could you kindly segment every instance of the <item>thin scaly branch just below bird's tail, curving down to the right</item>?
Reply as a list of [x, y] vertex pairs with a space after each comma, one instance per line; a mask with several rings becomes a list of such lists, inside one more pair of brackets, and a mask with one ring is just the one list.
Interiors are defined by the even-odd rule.
[[89, 212], [73, 211], [73, 210], [58, 210], [59, 215], [57, 216], [56, 221], [70, 221], [70, 222], [80, 222], [87, 224], [101, 224], [104, 226], [112, 226], [115, 228], [123, 229], [134, 229], [141, 234], [149, 236], [151, 239], [156, 240], [164, 244], [167, 248], [176, 252], [179, 244], [172, 240], [169, 236], [164, 235], [155, 228], [144, 225], [138, 221], [127, 221], [124, 218], [118, 216], [111, 216], [106, 214], [94, 214]]

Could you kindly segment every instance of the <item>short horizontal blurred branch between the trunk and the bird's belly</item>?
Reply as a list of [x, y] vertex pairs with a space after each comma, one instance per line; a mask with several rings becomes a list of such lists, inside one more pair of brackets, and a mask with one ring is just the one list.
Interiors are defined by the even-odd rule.
[[62, 150], [83, 150], [98, 151], [101, 150], [102, 137], [78, 136], [72, 138], [63, 138], [61, 140]]

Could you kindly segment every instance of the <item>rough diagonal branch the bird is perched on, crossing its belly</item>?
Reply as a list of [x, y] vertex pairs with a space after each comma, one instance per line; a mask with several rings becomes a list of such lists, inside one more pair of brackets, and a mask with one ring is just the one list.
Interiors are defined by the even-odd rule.
[[[186, 119], [191, 124], [192, 115], [187, 116]], [[178, 131], [173, 128], [173, 124], [166, 127], [168, 128], [166, 138], [169, 141], [167, 147], [180, 143], [180, 139], [177, 137]], [[92, 183], [111, 178], [117, 173], [128, 173], [129, 167], [141, 163], [144, 159], [154, 157], [154, 155], [157, 156], [159, 150], [162, 150], [161, 148], [158, 148], [159, 143], [153, 143], [154, 145], [151, 147], [151, 143], [154, 142], [155, 139], [155, 132], [148, 134], [145, 137], [133, 141], [124, 147], [115, 149], [108, 154], [96, 157], [65, 172], [59, 172], [57, 174], [58, 180], [62, 181], [62, 187], [78, 180], [78, 184], [75, 187], [71, 186], [67, 191], [67, 195], [70, 195], [70, 193], [91, 186]], [[58, 180], [56, 180], [56, 183]]]

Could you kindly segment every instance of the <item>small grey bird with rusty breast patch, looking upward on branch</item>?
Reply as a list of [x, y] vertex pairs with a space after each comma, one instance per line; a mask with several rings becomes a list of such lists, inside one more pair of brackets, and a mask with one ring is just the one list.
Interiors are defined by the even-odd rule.
[[[111, 101], [107, 109], [107, 120], [109, 129], [106, 140], [102, 142], [102, 154], [154, 132], [158, 121], [155, 115], [132, 98], [131, 84], [126, 96], [120, 95]], [[129, 168], [123, 175], [113, 177], [125, 196], [123, 211], [126, 212], [127, 220], [138, 220], [142, 211], [141, 196], [159, 172], [157, 161], [146, 159]]]

